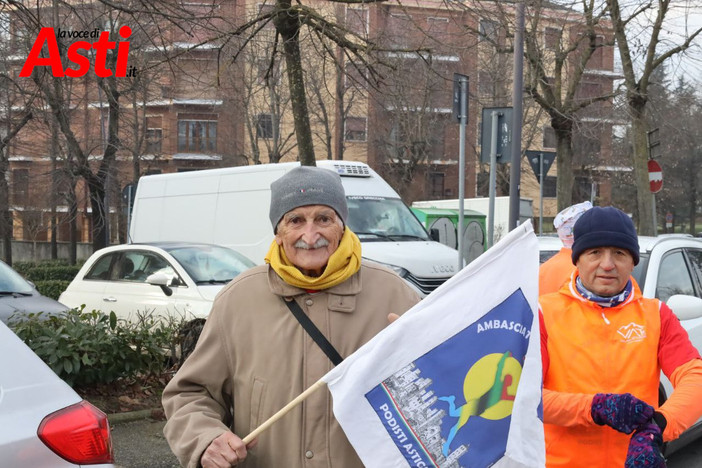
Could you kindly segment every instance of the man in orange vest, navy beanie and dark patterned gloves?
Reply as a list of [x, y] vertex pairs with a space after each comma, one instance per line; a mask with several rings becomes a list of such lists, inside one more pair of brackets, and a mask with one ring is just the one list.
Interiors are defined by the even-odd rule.
[[[702, 415], [702, 359], [631, 278], [639, 245], [626, 214], [592, 208], [573, 233], [575, 273], [539, 298], [546, 466], [664, 467], [663, 442]], [[661, 371], [675, 391], [659, 406]]]

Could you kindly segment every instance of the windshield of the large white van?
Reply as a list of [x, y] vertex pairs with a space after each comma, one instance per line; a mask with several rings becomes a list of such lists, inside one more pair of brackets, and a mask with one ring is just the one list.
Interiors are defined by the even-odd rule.
[[399, 198], [351, 196], [348, 225], [362, 241], [428, 241], [427, 231]]

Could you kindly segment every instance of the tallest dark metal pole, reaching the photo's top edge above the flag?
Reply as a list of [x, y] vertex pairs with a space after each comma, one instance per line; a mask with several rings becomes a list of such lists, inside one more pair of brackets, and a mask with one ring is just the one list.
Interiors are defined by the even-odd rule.
[[509, 230], [519, 224], [519, 186], [522, 161], [522, 88], [524, 83], [524, 2], [517, 3], [514, 31], [514, 70], [512, 79], [512, 166], [509, 172]]

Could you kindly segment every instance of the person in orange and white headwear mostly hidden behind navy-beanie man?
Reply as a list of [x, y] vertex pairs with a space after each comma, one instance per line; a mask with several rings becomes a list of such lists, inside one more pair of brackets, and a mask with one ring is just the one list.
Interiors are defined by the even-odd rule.
[[589, 201], [578, 203], [561, 211], [553, 219], [553, 227], [556, 228], [563, 247], [539, 267], [539, 294], [558, 291], [575, 270], [575, 265], [570, 258], [573, 246], [573, 226], [578, 218], [590, 208], [592, 208], [592, 203]]

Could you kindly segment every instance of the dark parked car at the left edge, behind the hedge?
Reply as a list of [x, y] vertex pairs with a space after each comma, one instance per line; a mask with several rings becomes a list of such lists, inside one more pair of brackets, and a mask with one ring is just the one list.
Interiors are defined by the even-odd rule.
[[14, 320], [29, 313], [42, 312], [49, 316], [66, 310], [68, 307], [39, 294], [32, 283], [0, 261], [0, 322], [7, 323], [13, 315]]

